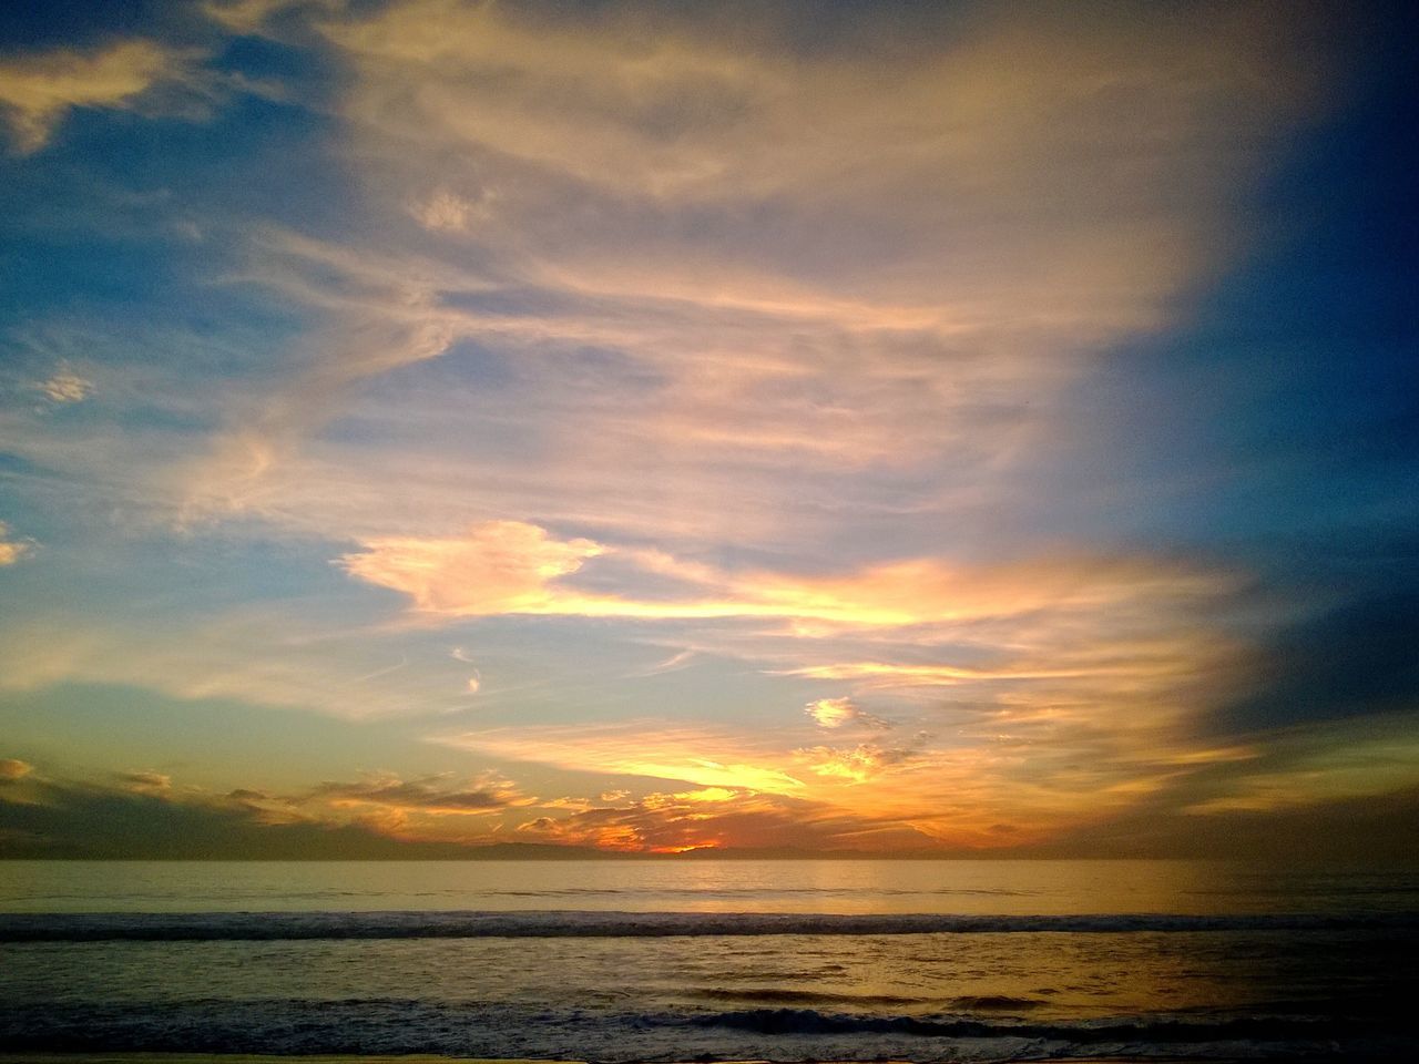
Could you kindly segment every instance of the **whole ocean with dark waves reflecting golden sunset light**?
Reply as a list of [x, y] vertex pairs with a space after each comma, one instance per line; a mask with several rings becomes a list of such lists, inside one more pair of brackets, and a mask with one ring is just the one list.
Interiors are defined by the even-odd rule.
[[1413, 1060], [1419, 871], [0, 863], [0, 1048]]

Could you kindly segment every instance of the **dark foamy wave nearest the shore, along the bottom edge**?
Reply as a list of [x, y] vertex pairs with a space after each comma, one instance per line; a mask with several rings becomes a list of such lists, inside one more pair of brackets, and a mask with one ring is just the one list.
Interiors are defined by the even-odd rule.
[[[1030, 1023], [971, 1016], [854, 1016], [812, 1009], [627, 1012], [488, 1007], [362, 999], [193, 1000], [142, 1009], [67, 1007], [13, 1013], [0, 1040], [23, 1051], [450, 1054], [602, 1061], [866, 1060], [1009, 1061], [1022, 1057], [1179, 1055], [1230, 1060], [1399, 1060], [1386, 1024], [1288, 1016], [1114, 1017]], [[768, 1041], [766, 1041], [768, 1040]], [[1412, 1046], [1412, 1043], [1410, 1043]]]

